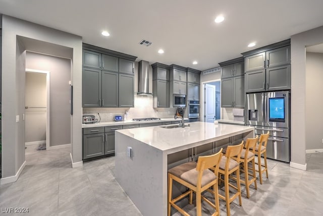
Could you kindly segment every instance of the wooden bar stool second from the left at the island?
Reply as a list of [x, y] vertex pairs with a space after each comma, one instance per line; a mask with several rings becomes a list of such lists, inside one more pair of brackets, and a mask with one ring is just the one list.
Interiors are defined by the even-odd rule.
[[[240, 158], [241, 150], [243, 148], [243, 141], [239, 145], [230, 145], [227, 147], [226, 154], [222, 156], [219, 166], [219, 174], [224, 176], [224, 180], [219, 178], [220, 181], [224, 182], [225, 185], [225, 196], [219, 194], [219, 197], [226, 200], [227, 205], [227, 215], [230, 215], [230, 203], [239, 197], [239, 205], [241, 206], [241, 188], [240, 188], [240, 170], [239, 165], [240, 161], [238, 158]], [[232, 173], [236, 173], [236, 182], [237, 187], [229, 183], [229, 176]], [[229, 186], [236, 189], [237, 192], [230, 197], [229, 194]]]

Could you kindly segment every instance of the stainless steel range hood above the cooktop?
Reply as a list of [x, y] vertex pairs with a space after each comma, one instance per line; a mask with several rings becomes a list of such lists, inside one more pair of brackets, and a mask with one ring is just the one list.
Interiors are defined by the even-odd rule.
[[149, 93], [149, 62], [141, 60], [139, 62], [139, 85], [137, 94]]

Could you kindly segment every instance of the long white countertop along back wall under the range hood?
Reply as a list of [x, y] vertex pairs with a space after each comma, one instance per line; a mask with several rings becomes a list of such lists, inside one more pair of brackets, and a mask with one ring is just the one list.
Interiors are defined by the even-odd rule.
[[[184, 118], [188, 120], [188, 118]], [[117, 122], [97, 122], [97, 123], [90, 123], [90, 124], [82, 124], [82, 128], [93, 128], [93, 127], [105, 127], [105, 126], [114, 126], [114, 125], [132, 125], [132, 124], [147, 124], [147, 123], [154, 123], [154, 122], [172, 122], [172, 121], [180, 121], [181, 119], [174, 119], [174, 118], [165, 118], [160, 120], [154, 121], [117, 121]]]

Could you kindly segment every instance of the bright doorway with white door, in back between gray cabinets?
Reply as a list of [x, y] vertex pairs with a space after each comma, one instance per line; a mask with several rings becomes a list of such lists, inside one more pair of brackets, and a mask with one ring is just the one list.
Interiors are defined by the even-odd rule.
[[203, 122], [221, 119], [221, 80], [202, 82], [203, 103], [201, 106]]

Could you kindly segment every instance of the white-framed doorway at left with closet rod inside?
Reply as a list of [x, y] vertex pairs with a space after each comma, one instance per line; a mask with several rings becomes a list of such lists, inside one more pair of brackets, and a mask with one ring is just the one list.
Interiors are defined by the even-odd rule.
[[25, 81], [25, 145], [50, 146], [50, 73], [26, 69]]

